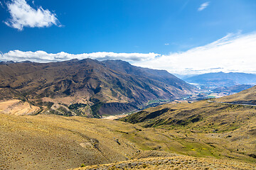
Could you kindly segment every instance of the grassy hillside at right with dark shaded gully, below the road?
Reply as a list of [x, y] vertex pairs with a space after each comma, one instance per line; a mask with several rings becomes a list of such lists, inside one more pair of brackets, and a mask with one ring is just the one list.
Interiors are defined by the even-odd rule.
[[148, 108], [120, 120], [144, 128], [177, 132], [183, 136], [179, 142], [191, 141], [187, 145], [190, 149], [186, 151], [181, 152], [182, 149], [176, 146], [173, 148], [181, 154], [224, 156], [255, 162], [255, 109], [252, 106], [199, 101]]

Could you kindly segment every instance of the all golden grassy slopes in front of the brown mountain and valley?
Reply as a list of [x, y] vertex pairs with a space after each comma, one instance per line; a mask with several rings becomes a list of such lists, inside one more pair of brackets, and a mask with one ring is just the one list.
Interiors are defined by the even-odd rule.
[[[138, 125], [117, 120], [0, 113], [0, 169], [74, 169], [81, 164], [88, 169], [95, 169], [95, 164], [117, 165], [121, 169], [121, 165], [129, 168], [129, 163], [134, 163], [134, 169], [143, 164], [146, 169], [256, 167], [255, 158], [249, 156], [256, 151], [254, 107], [200, 101], [149, 108], [139, 116], [164, 108], [169, 108], [166, 113]], [[191, 118], [198, 115], [201, 119], [192, 123]], [[171, 124], [170, 118], [188, 122]], [[171, 163], [172, 158], [182, 164]], [[189, 159], [195, 164], [183, 164]], [[196, 164], [196, 160], [201, 163]]]

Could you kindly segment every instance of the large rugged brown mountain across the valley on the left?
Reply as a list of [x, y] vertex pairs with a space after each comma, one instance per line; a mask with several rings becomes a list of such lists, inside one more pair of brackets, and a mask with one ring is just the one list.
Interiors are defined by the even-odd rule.
[[0, 64], [0, 100], [19, 98], [60, 115], [124, 113], [151, 100], [182, 98], [192, 89], [169, 72], [120, 60]]

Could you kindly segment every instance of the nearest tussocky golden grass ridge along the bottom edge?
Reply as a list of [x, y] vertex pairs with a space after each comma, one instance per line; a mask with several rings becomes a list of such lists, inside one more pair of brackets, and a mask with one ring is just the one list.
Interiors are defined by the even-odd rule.
[[134, 159], [126, 162], [85, 166], [75, 170], [114, 170], [114, 169], [255, 169], [255, 165], [234, 162], [226, 159], [204, 159], [187, 156], [154, 157]]

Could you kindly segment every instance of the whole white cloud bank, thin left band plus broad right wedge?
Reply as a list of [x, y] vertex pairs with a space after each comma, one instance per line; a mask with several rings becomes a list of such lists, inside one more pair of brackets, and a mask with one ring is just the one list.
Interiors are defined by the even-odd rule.
[[[207, 72], [256, 73], [256, 33], [228, 34], [215, 42], [194, 47], [185, 52], [159, 55], [154, 52], [114, 53], [93, 52], [79, 55], [59, 52], [49, 54], [43, 51], [22, 52], [20, 50], [0, 54], [0, 60], [21, 62], [58, 62], [72, 59], [91, 58], [95, 60], [124, 60], [139, 67], [166, 69], [176, 74], [203, 74]], [[1, 53], [1, 52], [0, 52]]]

